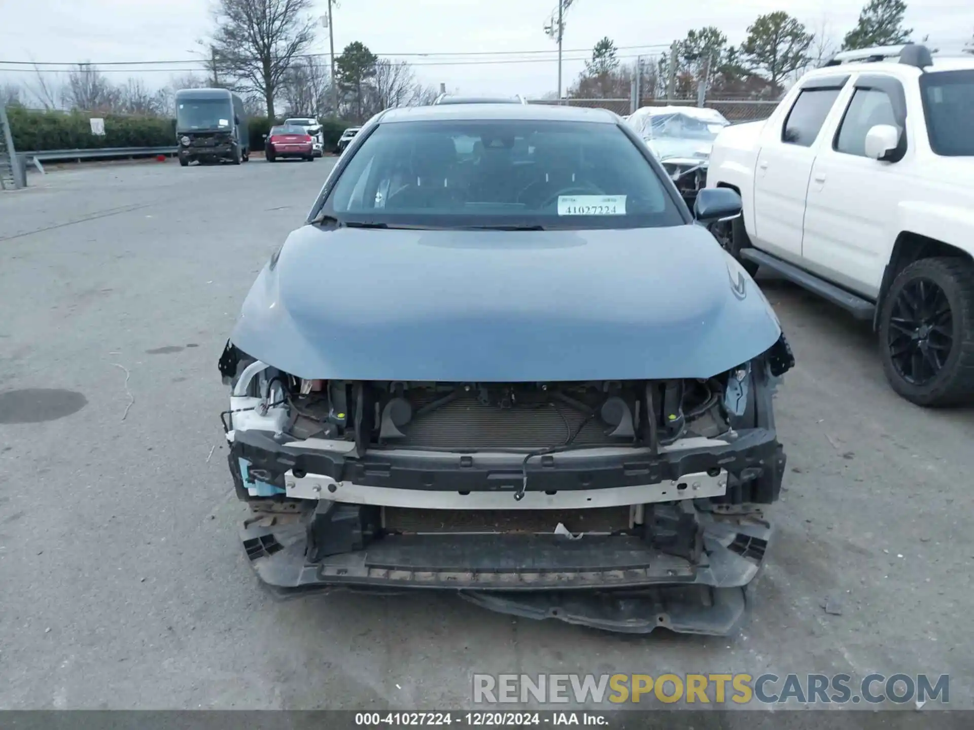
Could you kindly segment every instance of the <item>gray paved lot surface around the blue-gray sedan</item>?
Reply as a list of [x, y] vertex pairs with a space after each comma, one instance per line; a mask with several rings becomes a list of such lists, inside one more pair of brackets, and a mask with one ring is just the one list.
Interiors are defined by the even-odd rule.
[[329, 164], [83, 167], [0, 194], [2, 707], [466, 708], [472, 672], [664, 671], [950, 674], [974, 706], [974, 411], [901, 400], [868, 327], [773, 280], [788, 473], [739, 636], [272, 600], [237, 538], [216, 360]]

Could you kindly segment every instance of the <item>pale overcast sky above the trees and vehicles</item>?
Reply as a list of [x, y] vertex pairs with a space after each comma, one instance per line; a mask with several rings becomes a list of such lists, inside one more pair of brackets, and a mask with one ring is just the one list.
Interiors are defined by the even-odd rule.
[[[315, 2], [316, 15], [323, 14], [326, 0]], [[906, 24], [918, 38], [929, 34], [931, 43], [960, 45], [974, 34], [974, 0], [908, 3]], [[659, 53], [651, 47], [668, 45], [702, 25], [717, 25], [731, 43], [740, 43], [754, 18], [783, 9], [809, 29], [824, 22], [841, 41], [860, 6], [860, 0], [575, 0], [566, 16], [564, 85], [578, 77], [581, 57], [603, 36], [612, 38], [620, 58], [628, 61], [628, 56]], [[342, 0], [334, 10], [335, 50], [361, 41], [373, 53], [413, 62], [422, 81], [443, 82], [449, 91], [540, 96], [557, 83], [556, 46], [543, 32], [556, 7], [557, 0]], [[197, 41], [212, 26], [211, 8], [210, 0], [0, 0], [0, 59], [191, 59], [198, 57]], [[320, 28], [313, 52], [327, 51], [328, 32]], [[413, 55], [499, 51], [545, 53], [489, 64], [471, 61], [511, 56]], [[165, 69], [176, 67], [141, 75], [151, 86], [163, 86], [173, 76]], [[0, 81], [29, 81], [32, 75], [0, 70]], [[111, 74], [118, 81], [130, 75], [137, 74]]]

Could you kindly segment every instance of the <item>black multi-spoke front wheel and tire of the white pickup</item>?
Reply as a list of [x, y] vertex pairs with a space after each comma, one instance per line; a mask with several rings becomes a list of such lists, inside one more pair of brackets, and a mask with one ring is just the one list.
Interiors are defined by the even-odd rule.
[[893, 390], [918, 406], [974, 398], [974, 265], [920, 259], [882, 300], [880, 358]]

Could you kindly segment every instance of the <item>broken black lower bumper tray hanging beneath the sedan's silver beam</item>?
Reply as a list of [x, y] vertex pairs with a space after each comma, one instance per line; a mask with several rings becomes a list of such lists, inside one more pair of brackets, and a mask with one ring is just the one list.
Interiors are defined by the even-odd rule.
[[760, 514], [700, 513], [697, 561], [633, 535], [387, 535], [310, 557], [307, 523], [258, 518], [242, 531], [260, 580], [288, 598], [329, 590], [456, 592], [484, 608], [633, 634], [727, 636], [744, 620], [771, 527]]

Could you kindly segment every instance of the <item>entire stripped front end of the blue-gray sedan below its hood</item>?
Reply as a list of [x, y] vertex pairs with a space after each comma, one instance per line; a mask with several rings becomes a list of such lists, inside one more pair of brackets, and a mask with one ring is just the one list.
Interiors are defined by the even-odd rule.
[[[228, 343], [221, 418], [253, 511], [244, 548], [282, 594], [451, 588], [536, 618], [572, 605], [603, 628], [725, 634], [768, 543], [761, 505], [785, 464], [770, 398], [792, 362], [782, 337], [707, 379], [329, 381]], [[659, 606], [674, 582], [713, 610], [678, 620], [671, 606], [636, 629], [562, 593], [652, 590]], [[508, 595], [525, 588], [548, 603]]]

